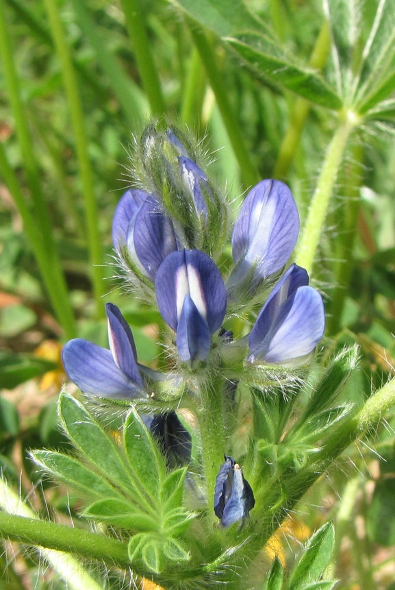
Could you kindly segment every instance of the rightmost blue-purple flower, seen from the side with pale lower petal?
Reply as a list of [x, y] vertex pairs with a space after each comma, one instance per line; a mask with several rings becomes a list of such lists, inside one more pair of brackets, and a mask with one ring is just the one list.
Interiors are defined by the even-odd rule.
[[322, 297], [305, 269], [292, 265], [270, 293], [249, 336], [249, 362], [298, 362], [324, 334]]

